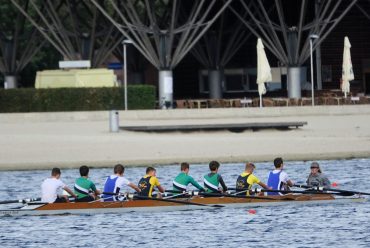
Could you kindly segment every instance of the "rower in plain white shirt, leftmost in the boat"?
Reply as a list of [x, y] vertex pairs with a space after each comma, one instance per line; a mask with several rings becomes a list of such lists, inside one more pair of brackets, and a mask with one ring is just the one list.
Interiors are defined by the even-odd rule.
[[48, 203], [62, 203], [69, 202], [67, 195], [58, 195], [58, 191], [62, 189], [67, 191], [68, 194], [77, 198], [73, 191], [68, 188], [62, 180], [60, 180], [62, 172], [59, 168], [53, 168], [51, 170], [51, 177], [46, 178], [41, 184], [41, 201]]

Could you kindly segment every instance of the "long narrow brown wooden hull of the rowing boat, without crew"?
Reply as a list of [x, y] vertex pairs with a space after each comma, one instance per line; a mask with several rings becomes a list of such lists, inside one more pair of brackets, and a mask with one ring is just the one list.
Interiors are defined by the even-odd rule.
[[128, 199], [118, 202], [30, 202], [18, 208], [0, 210], [0, 216], [99, 214], [205, 209], [210, 207], [257, 207], [283, 204], [326, 204], [364, 202], [363, 197], [337, 197], [332, 194], [289, 194], [266, 197], [201, 197], [166, 199]]

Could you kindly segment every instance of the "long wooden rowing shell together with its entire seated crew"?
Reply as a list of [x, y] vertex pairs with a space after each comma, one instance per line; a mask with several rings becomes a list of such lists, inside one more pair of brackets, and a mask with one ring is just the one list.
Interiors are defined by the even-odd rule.
[[[370, 195], [366, 192], [330, 188], [330, 181], [322, 174], [317, 162], [311, 164], [307, 185], [293, 185], [287, 173], [283, 171], [282, 158], [274, 160], [275, 169], [269, 172], [267, 185], [253, 174], [255, 165], [248, 162], [245, 165], [245, 171], [236, 179], [235, 189], [226, 186], [223, 177], [219, 174], [219, 167], [220, 163], [217, 161], [209, 163], [210, 172], [204, 175], [204, 187], [202, 187], [189, 175], [190, 165], [183, 162], [180, 164], [181, 172], [173, 179], [173, 190], [165, 193], [164, 187], [156, 177], [155, 168], [148, 167], [146, 175], [139, 180], [136, 186], [123, 176], [124, 166], [117, 164], [113, 169], [114, 174], [105, 180], [103, 194], [89, 179], [87, 166], [80, 167], [80, 177], [75, 180], [74, 192], [60, 180], [60, 169], [53, 168], [51, 177], [42, 183], [42, 198], [0, 201], [0, 204], [25, 204], [17, 208], [2, 209], [0, 215], [167, 211], [220, 208], [227, 205], [239, 207], [247, 207], [250, 204], [253, 206], [274, 205], [275, 203], [280, 205], [292, 202], [305, 202], [305, 204], [363, 202], [366, 198], [362, 195]], [[252, 188], [255, 184], [262, 189], [255, 191]], [[189, 191], [189, 185], [196, 190]], [[291, 187], [300, 187], [304, 190], [291, 190]], [[59, 194], [62, 190], [66, 191], [66, 194]], [[134, 194], [130, 192], [132, 190], [135, 190]], [[168, 195], [168, 192], [173, 194]], [[261, 193], [255, 194], [255, 192]], [[69, 203], [69, 201], [75, 202]]]

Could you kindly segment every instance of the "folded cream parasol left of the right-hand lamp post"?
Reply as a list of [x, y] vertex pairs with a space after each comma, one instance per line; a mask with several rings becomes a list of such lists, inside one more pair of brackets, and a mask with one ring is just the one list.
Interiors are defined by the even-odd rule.
[[266, 57], [265, 47], [262, 40], [257, 40], [257, 84], [260, 95], [260, 107], [262, 108], [262, 95], [266, 93], [265, 82], [271, 82], [271, 67]]

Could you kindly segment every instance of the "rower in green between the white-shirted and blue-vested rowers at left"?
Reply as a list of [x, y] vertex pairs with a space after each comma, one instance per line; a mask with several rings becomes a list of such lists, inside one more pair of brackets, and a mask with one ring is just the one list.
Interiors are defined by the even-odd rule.
[[[76, 202], [90, 202], [94, 201], [98, 195], [100, 195], [100, 191], [96, 189], [95, 184], [90, 181], [89, 178], [89, 167], [83, 165], [80, 167], [80, 178], [76, 179], [74, 191], [77, 195]], [[90, 191], [93, 192], [90, 195]]]

